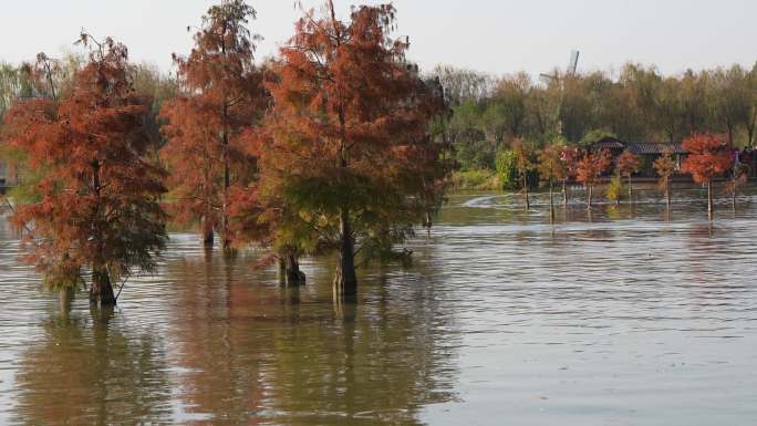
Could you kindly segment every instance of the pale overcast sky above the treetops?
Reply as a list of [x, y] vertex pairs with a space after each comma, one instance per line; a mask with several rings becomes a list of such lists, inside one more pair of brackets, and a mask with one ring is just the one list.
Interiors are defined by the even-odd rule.
[[[319, 6], [317, 0], [302, 0]], [[336, 0], [343, 13], [357, 1]], [[367, 0], [364, 3], [380, 1]], [[186, 53], [186, 32], [210, 0], [2, 0], [0, 60], [70, 49], [80, 28], [125, 42], [137, 62], [168, 70], [170, 53]], [[293, 0], [249, 1], [252, 24], [276, 52], [299, 15]], [[757, 60], [757, 0], [395, 0], [398, 32], [409, 35], [409, 58], [496, 74], [531, 74], [566, 67], [581, 51], [579, 69], [616, 70], [628, 61], [664, 73]]]

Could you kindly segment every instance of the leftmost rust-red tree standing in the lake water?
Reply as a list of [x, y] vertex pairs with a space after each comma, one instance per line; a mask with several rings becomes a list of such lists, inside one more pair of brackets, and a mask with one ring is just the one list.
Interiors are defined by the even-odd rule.
[[82, 42], [92, 49], [71, 94], [9, 112], [11, 144], [43, 170], [37, 200], [18, 206], [12, 221], [49, 283], [79, 282], [86, 267], [90, 300], [114, 304], [113, 280], [152, 270], [165, 245], [165, 172], [146, 159], [151, 101], [134, 92], [126, 48], [86, 34]]

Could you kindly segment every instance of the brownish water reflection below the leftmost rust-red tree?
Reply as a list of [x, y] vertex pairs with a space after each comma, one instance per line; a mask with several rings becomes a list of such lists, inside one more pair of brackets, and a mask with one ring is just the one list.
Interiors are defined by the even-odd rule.
[[170, 387], [156, 337], [126, 331], [113, 310], [51, 315], [15, 375], [15, 419], [29, 425], [133, 425], [170, 415]]

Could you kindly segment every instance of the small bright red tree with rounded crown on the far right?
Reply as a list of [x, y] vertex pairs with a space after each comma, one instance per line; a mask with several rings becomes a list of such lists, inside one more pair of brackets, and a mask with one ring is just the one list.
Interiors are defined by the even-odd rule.
[[688, 152], [681, 169], [697, 184], [707, 185], [707, 216], [713, 219], [713, 179], [733, 166], [730, 149], [720, 135], [695, 134], [683, 142]]

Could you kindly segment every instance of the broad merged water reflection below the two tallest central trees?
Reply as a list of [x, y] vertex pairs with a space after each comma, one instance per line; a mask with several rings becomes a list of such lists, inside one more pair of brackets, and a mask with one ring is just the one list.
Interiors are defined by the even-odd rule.
[[335, 310], [328, 269], [293, 293], [243, 261], [169, 268], [187, 298], [173, 333], [185, 423], [414, 425], [453, 398], [449, 324], [425, 284], [390, 289], [396, 270], [370, 271], [364, 300]]

